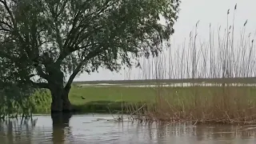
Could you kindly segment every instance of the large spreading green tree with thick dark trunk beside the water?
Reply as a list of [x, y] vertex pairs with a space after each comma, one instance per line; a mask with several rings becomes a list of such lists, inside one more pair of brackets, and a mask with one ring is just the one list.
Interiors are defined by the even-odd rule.
[[120, 70], [157, 55], [174, 33], [179, 3], [0, 0], [0, 62], [17, 67], [20, 82], [49, 89], [52, 111], [71, 110], [68, 94], [77, 74]]

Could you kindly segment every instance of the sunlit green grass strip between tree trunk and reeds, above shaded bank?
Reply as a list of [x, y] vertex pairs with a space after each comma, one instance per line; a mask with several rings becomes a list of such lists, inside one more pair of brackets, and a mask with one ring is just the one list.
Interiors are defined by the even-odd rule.
[[[139, 102], [153, 101], [154, 90], [150, 87], [93, 87], [72, 88], [70, 90], [70, 102], [77, 105], [84, 102], [111, 101], [111, 102]], [[82, 100], [81, 96], [85, 97]]]

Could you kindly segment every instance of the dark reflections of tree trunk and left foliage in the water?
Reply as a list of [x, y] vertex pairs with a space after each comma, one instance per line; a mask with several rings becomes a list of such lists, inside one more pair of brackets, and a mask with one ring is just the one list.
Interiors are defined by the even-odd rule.
[[[66, 143], [66, 136], [70, 132], [70, 118], [72, 114], [52, 114], [52, 126], [37, 127], [38, 118], [10, 118], [0, 121], [0, 143], [1, 144], [34, 144], [44, 143], [49, 140], [47, 134], [51, 132], [50, 138], [54, 144]], [[51, 128], [52, 130], [49, 130]], [[44, 138], [48, 137], [48, 138]]]

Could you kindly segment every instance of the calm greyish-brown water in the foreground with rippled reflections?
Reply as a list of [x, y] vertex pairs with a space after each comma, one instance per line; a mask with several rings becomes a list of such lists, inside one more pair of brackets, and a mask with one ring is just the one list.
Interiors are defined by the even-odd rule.
[[[1, 144], [159, 143], [254, 144], [256, 126], [191, 126], [112, 122], [106, 114], [35, 116], [0, 123]], [[104, 118], [104, 119], [99, 119]], [[255, 129], [254, 129], [255, 127]]]

